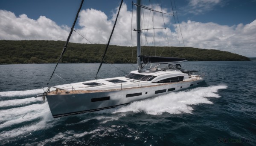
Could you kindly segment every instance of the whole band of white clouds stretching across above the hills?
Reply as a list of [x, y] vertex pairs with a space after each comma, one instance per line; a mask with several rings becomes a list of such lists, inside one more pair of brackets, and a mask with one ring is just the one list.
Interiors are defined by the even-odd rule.
[[[195, 2], [196, 3], [196, 2]], [[157, 6], [154, 6], [157, 8]], [[159, 9], [158, 9], [159, 10]], [[167, 9], [163, 11], [168, 12]], [[169, 11], [170, 12], [170, 11]], [[76, 29], [92, 43], [107, 44], [108, 38], [116, 19], [116, 13], [108, 17], [104, 12], [96, 9], [82, 10], [79, 14]], [[136, 46], [136, 12], [133, 14], [133, 25], [131, 27], [132, 11], [128, 11], [125, 3], [119, 14], [114, 30], [111, 44], [120, 46], [131, 46], [131, 33], [133, 46]], [[147, 14], [149, 14], [147, 16]], [[156, 14], [156, 13], [154, 13]], [[142, 29], [152, 28], [152, 18], [148, 11], [145, 11]], [[171, 23], [171, 17], [164, 15], [166, 24]], [[154, 15], [154, 27], [164, 27], [162, 14]], [[175, 27], [176, 26], [171, 26]], [[256, 20], [250, 24], [239, 24], [237, 26], [223, 26], [217, 23], [200, 23], [187, 21], [180, 23], [185, 46], [198, 47], [203, 49], [218, 49], [233, 52], [247, 57], [256, 56]], [[40, 16], [37, 20], [30, 19], [26, 14], [18, 17], [10, 11], [0, 10], [0, 40], [66, 40], [70, 28], [58, 26], [54, 21], [47, 17]], [[168, 46], [166, 31], [170, 46], [180, 46], [177, 39], [177, 31], [172, 29], [155, 29], [144, 31], [142, 35], [142, 45]], [[154, 33], [155, 32], [155, 33]], [[70, 42], [88, 43], [79, 34], [73, 32]], [[147, 36], [147, 42], [145, 40]], [[153, 37], [154, 36], [154, 37]], [[179, 34], [180, 36], [180, 34]], [[182, 40], [181, 40], [182, 41]]]

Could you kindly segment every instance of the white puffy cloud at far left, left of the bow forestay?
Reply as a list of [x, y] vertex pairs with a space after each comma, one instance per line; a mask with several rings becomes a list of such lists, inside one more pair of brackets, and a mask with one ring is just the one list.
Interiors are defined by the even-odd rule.
[[67, 29], [45, 16], [33, 20], [26, 14], [16, 17], [11, 11], [0, 10], [1, 40], [64, 40]]

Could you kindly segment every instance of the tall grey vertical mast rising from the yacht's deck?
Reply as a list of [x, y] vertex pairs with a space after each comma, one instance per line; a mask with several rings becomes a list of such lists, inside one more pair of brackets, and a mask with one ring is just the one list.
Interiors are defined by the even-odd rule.
[[138, 72], [141, 72], [141, 63], [140, 63], [140, 0], [137, 0], [137, 63], [138, 63]]

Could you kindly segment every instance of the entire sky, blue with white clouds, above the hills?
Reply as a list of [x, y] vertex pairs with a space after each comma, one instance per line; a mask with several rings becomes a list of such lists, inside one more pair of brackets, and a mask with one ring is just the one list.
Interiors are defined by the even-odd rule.
[[[91, 43], [107, 44], [120, 2], [84, 0], [75, 30]], [[151, 2], [142, 0], [144, 6], [177, 15], [142, 10], [142, 29], [166, 28], [143, 31], [142, 46], [188, 46], [256, 57], [256, 0]], [[0, 0], [0, 40], [65, 41], [80, 3]], [[131, 3], [124, 0], [122, 4], [111, 45], [137, 46], [136, 32], [132, 31], [136, 28], [136, 6]], [[89, 43], [79, 34], [73, 32], [70, 42]]]

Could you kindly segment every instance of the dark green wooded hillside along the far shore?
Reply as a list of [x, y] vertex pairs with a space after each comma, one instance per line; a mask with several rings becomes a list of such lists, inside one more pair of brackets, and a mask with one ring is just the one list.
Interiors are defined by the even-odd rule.
[[[64, 41], [0, 40], [0, 64], [56, 63]], [[99, 63], [105, 51], [103, 44], [69, 43], [62, 63]], [[156, 52], [155, 52], [156, 50]], [[182, 57], [189, 61], [248, 61], [248, 57], [230, 52], [192, 47], [145, 47], [143, 54]], [[110, 46], [105, 60], [109, 63], [136, 63], [136, 46]]]

